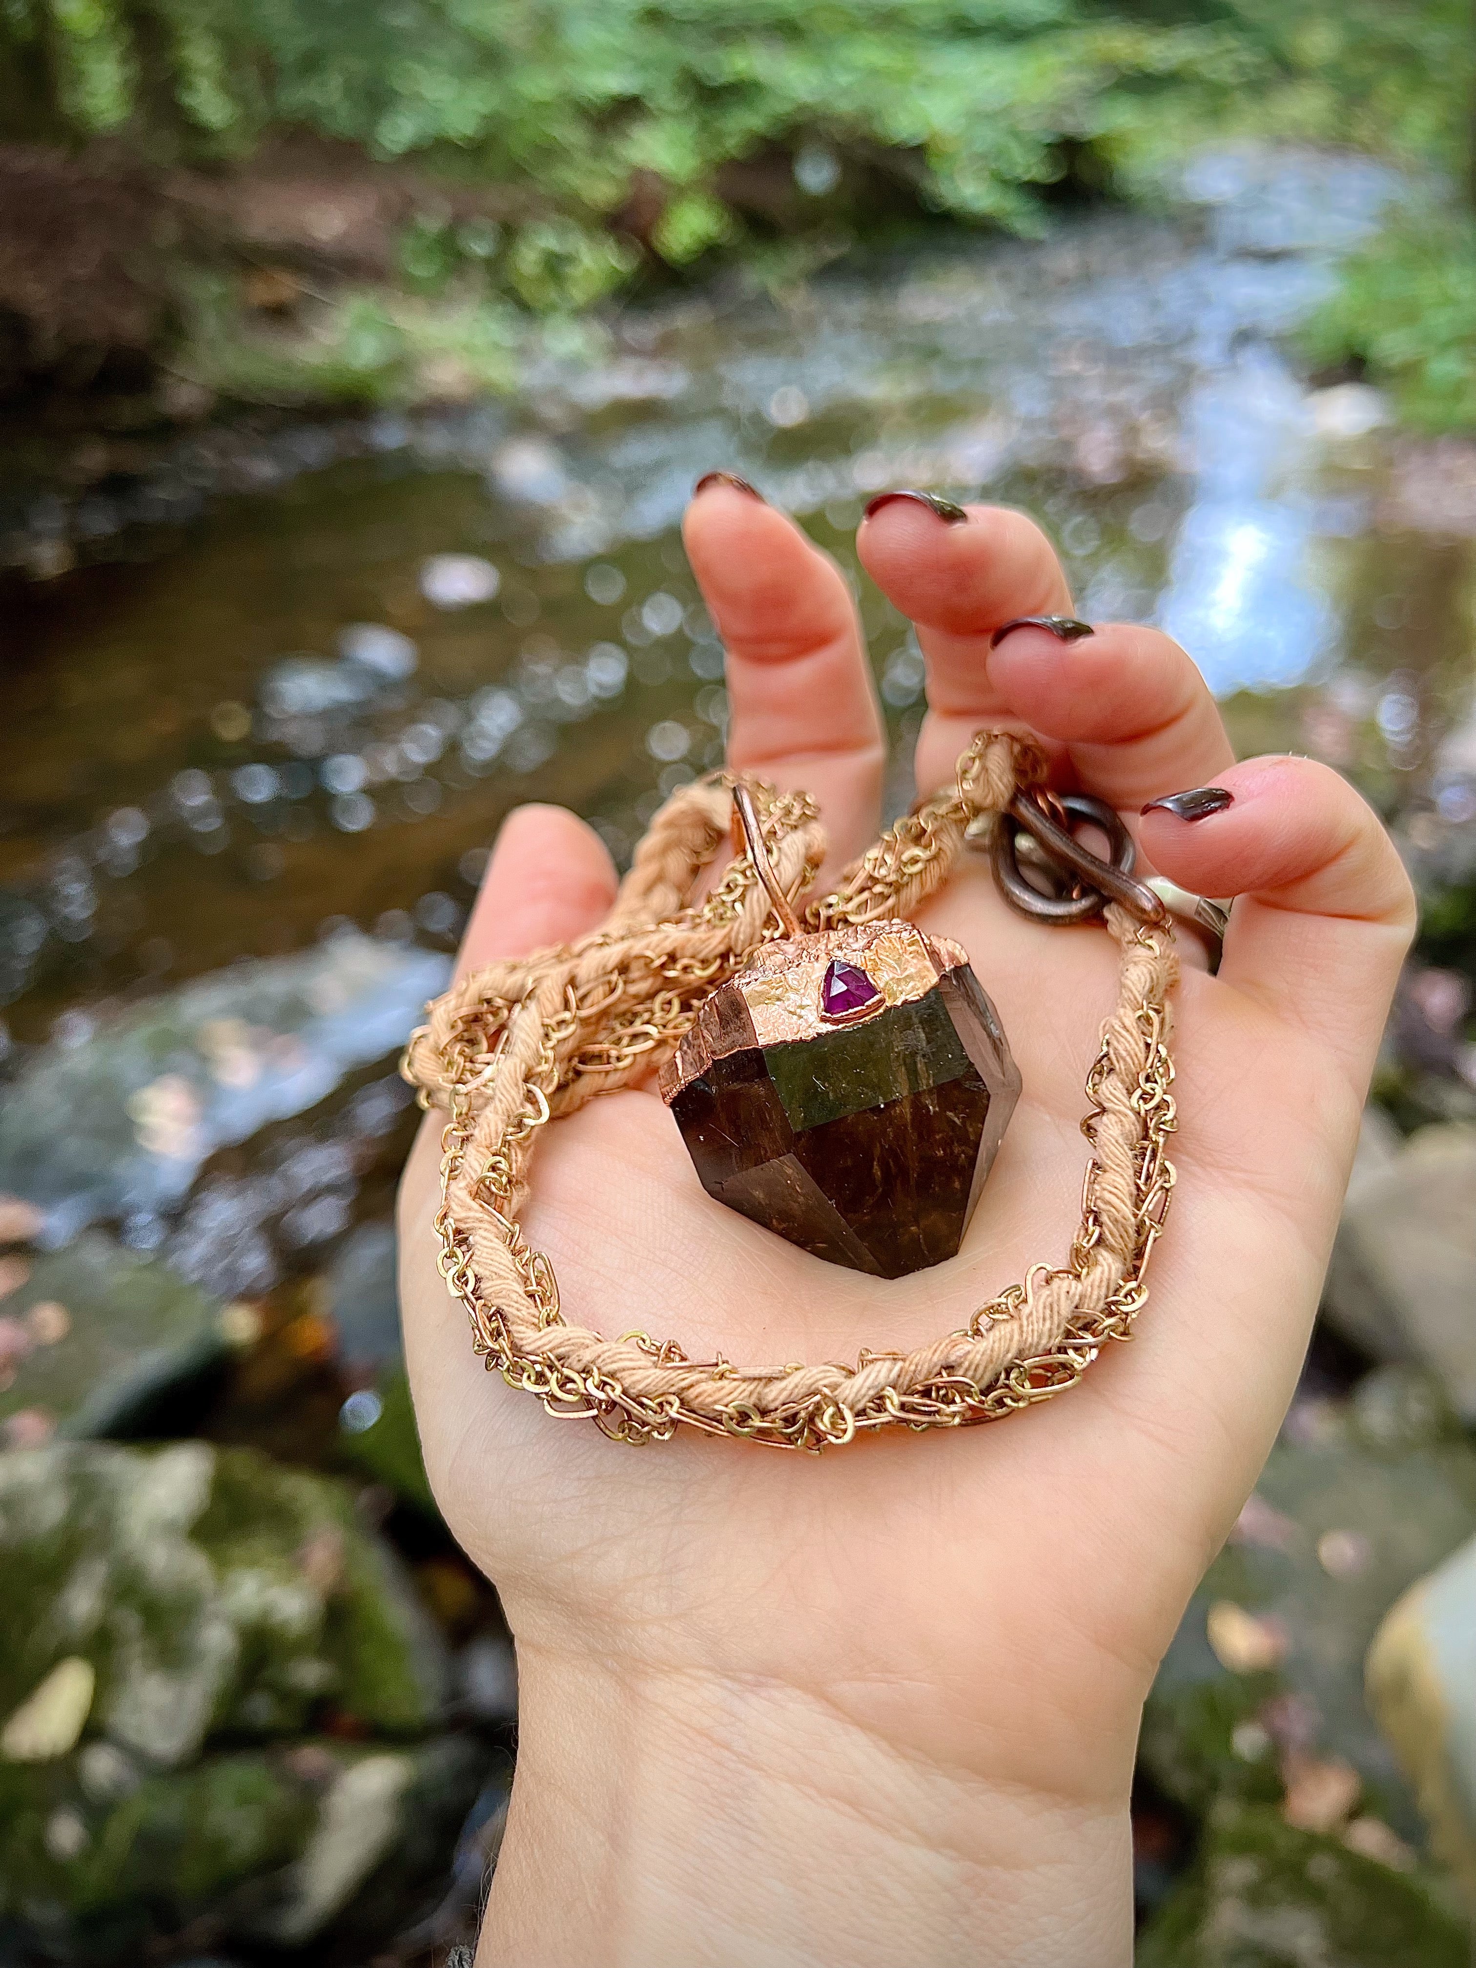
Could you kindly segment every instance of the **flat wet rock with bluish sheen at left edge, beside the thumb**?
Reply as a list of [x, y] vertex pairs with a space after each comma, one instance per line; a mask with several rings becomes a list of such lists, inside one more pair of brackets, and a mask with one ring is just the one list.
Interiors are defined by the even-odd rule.
[[0, 1191], [35, 1202], [53, 1244], [116, 1216], [146, 1240], [213, 1149], [307, 1112], [350, 1069], [392, 1053], [447, 968], [435, 953], [344, 931], [199, 978], [77, 1045], [57, 1041], [0, 1108]]

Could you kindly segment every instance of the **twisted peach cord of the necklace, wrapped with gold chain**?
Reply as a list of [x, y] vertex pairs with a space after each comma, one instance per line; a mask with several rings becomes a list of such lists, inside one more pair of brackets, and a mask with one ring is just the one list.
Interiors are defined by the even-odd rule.
[[[809, 905], [807, 923], [909, 915], [947, 880], [966, 830], [1041, 779], [1035, 746], [980, 732], [954, 785], [888, 829], [830, 895]], [[799, 893], [825, 854], [815, 803], [764, 785], [754, 795], [779, 882]], [[1177, 958], [1167, 931], [1116, 905], [1106, 927], [1122, 951], [1118, 1004], [1086, 1078], [1082, 1132], [1092, 1157], [1065, 1267], [1033, 1265], [966, 1326], [909, 1354], [862, 1350], [856, 1366], [693, 1362], [673, 1340], [646, 1332], [606, 1340], [559, 1311], [549, 1260], [518, 1226], [537, 1130], [661, 1065], [703, 998], [773, 933], [746, 856], [703, 903], [687, 901], [728, 834], [730, 813], [720, 777], [677, 791], [651, 821], [598, 931], [488, 964], [439, 998], [409, 1041], [405, 1078], [421, 1088], [423, 1106], [449, 1110], [439, 1263], [466, 1307], [476, 1352], [549, 1413], [588, 1417], [634, 1443], [667, 1441], [687, 1425], [821, 1448], [888, 1425], [992, 1421], [1073, 1385], [1143, 1307], [1143, 1271], [1173, 1189], [1167, 994]]]

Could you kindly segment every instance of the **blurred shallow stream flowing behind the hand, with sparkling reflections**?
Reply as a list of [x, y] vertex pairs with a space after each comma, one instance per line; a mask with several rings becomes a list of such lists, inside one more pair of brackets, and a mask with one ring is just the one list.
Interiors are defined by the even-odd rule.
[[[437, 986], [500, 817], [565, 801], [624, 856], [722, 756], [677, 533], [714, 466], [850, 569], [878, 488], [1025, 506], [1082, 614], [1195, 651], [1242, 750], [1317, 752], [1387, 805], [1417, 787], [1431, 842], [1468, 830], [1476, 549], [1401, 492], [1374, 392], [1311, 388], [1287, 344], [1395, 193], [1358, 159], [1212, 157], [1171, 213], [553, 337], [518, 401], [191, 439], [31, 498], [6, 549], [37, 579], [4, 667], [0, 1189], [53, 1242], [171, 1238], [226, 1293], [331, 1248], [362, 1157], [291, 1260], [220, 1260], [197, 1175], [270, 1122], [276, 1200], [248, 1155], [230, 1222], [301, 1218], [291, 1116]], [[856, 588], [905, 756], [921, 659]], [[240, 958], [274, 964], [183, 988]], [[89, 1100], [79, 1161], [47, 1116]]]

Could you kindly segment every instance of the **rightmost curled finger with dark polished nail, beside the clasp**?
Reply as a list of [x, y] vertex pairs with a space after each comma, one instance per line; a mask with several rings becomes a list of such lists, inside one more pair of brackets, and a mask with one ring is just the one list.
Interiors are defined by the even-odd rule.
[[1362, 1088], [1415, 933], [1393, 842], [1313, 760], [1248, 760], [1218, 785], [1230, 799], [1200, 819], [1143, 809], [1143, 848], [1171, 882], [1238, 897], [1220, 980], [1326, 1041]]

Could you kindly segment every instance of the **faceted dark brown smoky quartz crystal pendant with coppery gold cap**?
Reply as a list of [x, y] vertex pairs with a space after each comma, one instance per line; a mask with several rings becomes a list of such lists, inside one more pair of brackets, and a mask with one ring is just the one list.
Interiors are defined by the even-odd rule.
[[[866, 931], [840, 970], [811, 951], [827, 937], [791, 943], [805, 956], [791, 966], [769, 945], [779, 956], [758, 980], [744, 972], [705, 1004], [663, 1094], [710, 1197], [830, 1263], [901, 1277], [956, 1254], [1019, 1073], [964, 953], [884, 927], [907, 939], [892, 970]], [[830, 1025], [825, 1004], [852, 964], [876, 978], [876, 1010], [864, 980], [842, 976], [834, 1015], [850, 1021]]]

